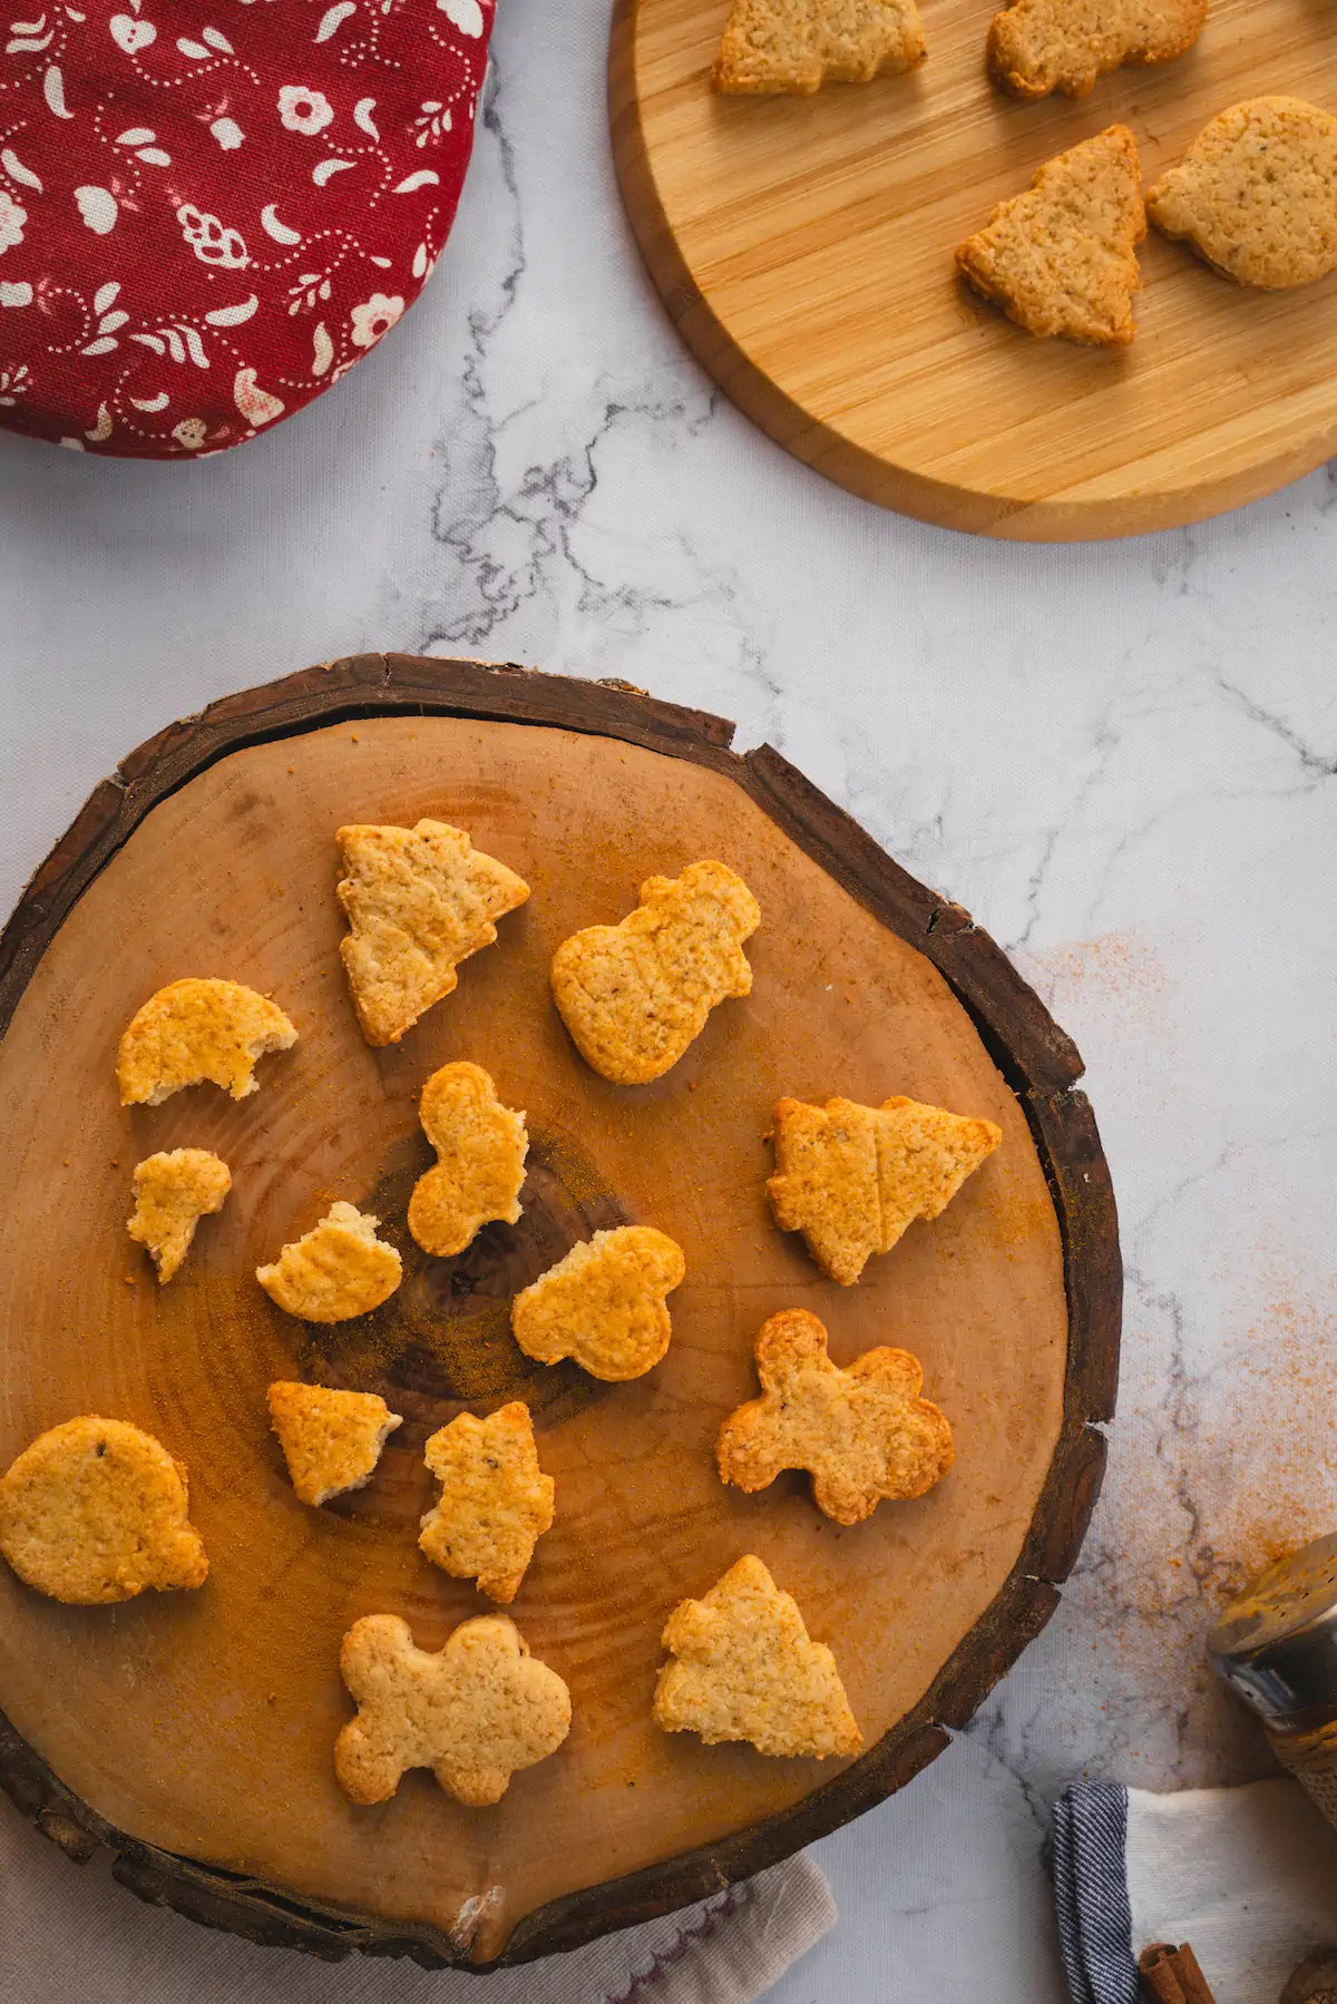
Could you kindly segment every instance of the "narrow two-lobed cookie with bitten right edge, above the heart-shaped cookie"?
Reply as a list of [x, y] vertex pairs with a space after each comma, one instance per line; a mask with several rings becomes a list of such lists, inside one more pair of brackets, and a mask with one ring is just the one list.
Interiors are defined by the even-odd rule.
[[409, 1230], [423, 1252], [455, 1259], [483, 1224], [519, 1218], [525, 1116], [501, 1104], [481, 1064], [443, 1064], [423, 1086], [419, 1120], [437, 1166], [413, 1184]]

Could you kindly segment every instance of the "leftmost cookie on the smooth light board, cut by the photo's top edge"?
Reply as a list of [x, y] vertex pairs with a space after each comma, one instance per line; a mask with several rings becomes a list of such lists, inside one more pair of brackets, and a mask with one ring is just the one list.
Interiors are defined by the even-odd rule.
[[812, 96], [924, 60], [914, 0], [734, 0], [710, 82], [730, 94]]

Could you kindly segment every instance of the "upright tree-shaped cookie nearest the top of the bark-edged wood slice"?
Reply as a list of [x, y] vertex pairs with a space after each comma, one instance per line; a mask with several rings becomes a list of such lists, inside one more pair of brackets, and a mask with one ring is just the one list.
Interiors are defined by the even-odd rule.
[[459, 984], [459, 962], [493, 944], [495, 922], [529, 886], [449, 822], [341, 828], [335, 840], [349, 920], [339, 952], [357, 1020], [369, 1044], [397, 1044]]

